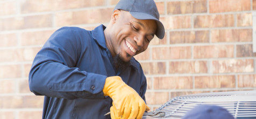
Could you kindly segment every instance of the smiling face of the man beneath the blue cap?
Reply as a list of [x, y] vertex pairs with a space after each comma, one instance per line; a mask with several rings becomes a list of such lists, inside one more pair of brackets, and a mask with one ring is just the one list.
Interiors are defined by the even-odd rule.
[[114, 54], [120, 54], [128, 62], [134, 55], [147, 50], [154, 38], [157, 26], [155, 20], [136, 19], [127, 11], [119, 11], [113, 24], [112, 40]]

